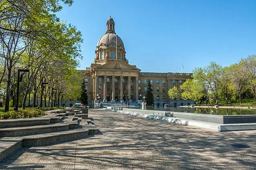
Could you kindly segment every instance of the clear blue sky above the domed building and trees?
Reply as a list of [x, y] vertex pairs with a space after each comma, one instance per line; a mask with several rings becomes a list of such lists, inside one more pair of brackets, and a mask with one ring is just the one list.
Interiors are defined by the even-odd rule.
[[57, 14], [83, 34], [80, 68], [90, 67], [109, 16], [126, 58], [142, 72], [192, 72], [256, 53], [256, 0], [74, 0]]

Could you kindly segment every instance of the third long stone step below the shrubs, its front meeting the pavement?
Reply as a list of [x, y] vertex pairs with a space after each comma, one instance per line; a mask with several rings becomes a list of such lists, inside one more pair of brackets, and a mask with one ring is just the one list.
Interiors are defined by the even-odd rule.
[[77, 138], [86, 137], [88, 129], [74, 129], [63, 132], [53, 132], [47, 134], [37, 134], [24, 137], [23, 146], [43, 146], [51, 145], [57, 142], [64, 142], [67, 140], [75, 140]]

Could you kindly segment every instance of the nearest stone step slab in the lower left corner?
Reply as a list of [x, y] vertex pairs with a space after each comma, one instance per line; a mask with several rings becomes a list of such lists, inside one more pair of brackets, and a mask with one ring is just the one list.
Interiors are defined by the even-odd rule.
[[0, 139], [0, 162], [22, 147], [22, 139], [4, 137]]

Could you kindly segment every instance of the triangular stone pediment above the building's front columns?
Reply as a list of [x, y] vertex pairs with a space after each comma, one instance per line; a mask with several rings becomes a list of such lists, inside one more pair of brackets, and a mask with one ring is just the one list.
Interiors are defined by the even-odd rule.
[[130, 64], [126, 63], [125, 61], [118, 61], [118, 60], [103, 64], [101, 66], [96, 67], [95, 69], [141, 71], [137, 67], [131, 66]]

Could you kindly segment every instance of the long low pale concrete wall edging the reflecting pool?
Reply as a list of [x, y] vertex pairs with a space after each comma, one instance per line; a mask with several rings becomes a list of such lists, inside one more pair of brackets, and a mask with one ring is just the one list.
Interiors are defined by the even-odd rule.
[[179, 119], [189, 119], [189, 120], [196, 120], [196, 121], [202, 121], [202, 122], [211, 122], [211, 123], [218, 123], [218, 124], [256, 123], [256, 115], [195, 114], [195, 113], [169, 112], [169, 111], [156, 111], [156, 110], [127, 109], [127, 108], [119, 108], [119, 107], [111, 107], [111, 109], [123, 110], [126, 112], [157, 115], [157, 116], [174, 117]]

